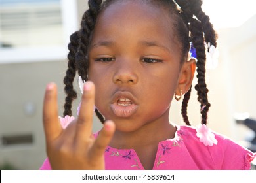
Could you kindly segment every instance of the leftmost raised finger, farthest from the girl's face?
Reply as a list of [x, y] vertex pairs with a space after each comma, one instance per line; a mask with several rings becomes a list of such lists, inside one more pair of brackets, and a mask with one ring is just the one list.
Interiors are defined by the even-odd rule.
[[52, 141], [62, 132], [62, 127], [60, 122], [58, 122], [57, 87], [54, 83], [47, 84], [45, 90], [43, 126], [47, 141]]

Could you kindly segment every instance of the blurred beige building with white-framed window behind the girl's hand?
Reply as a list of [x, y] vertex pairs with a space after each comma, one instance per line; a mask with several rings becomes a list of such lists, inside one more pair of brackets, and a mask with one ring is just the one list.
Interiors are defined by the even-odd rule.
[[0, 0], [1, 169], [39, 169], [46, 158], [43, 95], [48, 82], [58, 84], [62, 116], [67, 42], [77, 16], [73, 0]]

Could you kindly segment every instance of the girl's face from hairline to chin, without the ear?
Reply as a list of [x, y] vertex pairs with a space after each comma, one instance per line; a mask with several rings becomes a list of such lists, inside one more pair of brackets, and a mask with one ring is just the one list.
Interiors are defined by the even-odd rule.
[[98, 16], [89, 48], [95, 105], [117, 131], [169, 122], [181, 56], [172, 20], [159, 7], [117, 2]]

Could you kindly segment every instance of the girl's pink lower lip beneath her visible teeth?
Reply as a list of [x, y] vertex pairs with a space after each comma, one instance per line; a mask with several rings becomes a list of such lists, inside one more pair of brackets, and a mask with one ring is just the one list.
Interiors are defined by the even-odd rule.
[[112, 105], [110, 105], [110, 108], [116, 116], [127, 118], [129, 116], [132, 116], [136, 112], [138, 106], [134, 104], [122, 106], [117, 105], [117, 103], [113, 103]]

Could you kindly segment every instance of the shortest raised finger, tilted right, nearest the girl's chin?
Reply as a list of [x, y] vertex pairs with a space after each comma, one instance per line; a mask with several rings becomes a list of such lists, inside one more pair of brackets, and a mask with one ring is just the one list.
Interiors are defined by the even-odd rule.
[[108, 146], [114, 135], [115, 129], [116, 125], [114, 124], [114, 122], [108, 120], [104, 123], [104, 127], [98, 134], [98, 137], [91, 148], [92, 161], [96, 161], [96, 159], [104, 154], [106, 147]]

